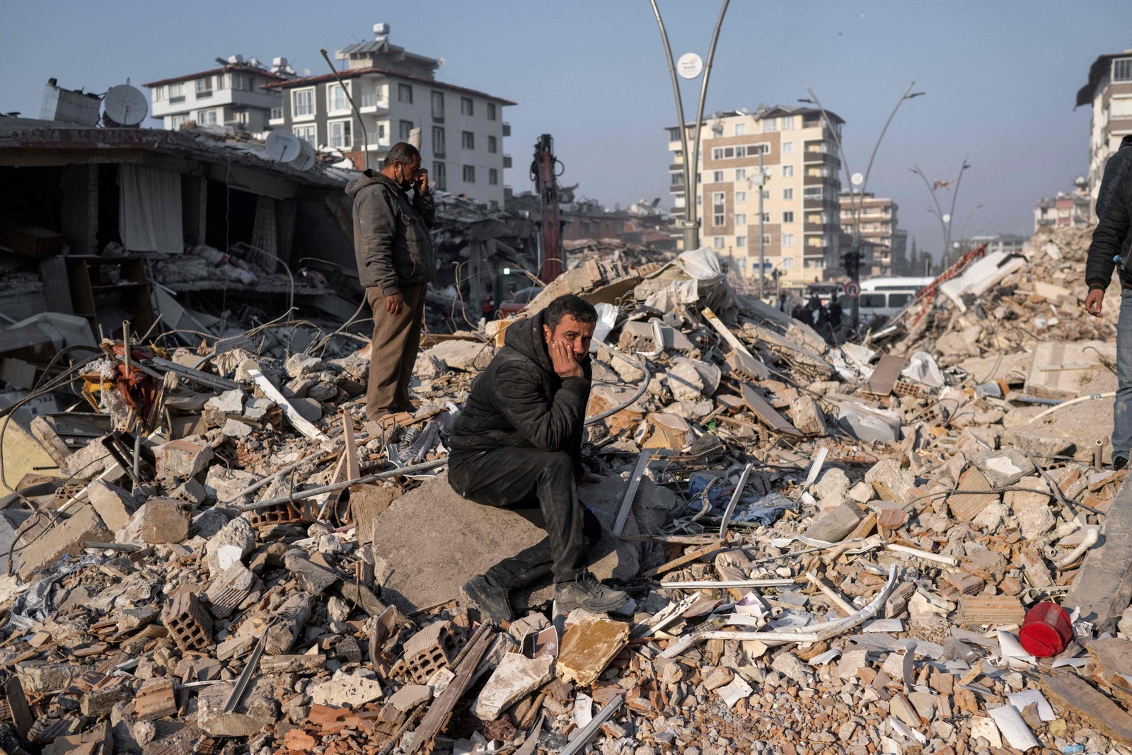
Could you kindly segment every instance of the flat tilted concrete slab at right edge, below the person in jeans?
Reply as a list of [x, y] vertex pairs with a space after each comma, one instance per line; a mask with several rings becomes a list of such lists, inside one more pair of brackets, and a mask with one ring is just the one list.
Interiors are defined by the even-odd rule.
[[1105, 518], [1105, 539], [1084, 556], [1063, 606], [1112, 632], [1132, 599], [1132, 486], [1122, 484]]

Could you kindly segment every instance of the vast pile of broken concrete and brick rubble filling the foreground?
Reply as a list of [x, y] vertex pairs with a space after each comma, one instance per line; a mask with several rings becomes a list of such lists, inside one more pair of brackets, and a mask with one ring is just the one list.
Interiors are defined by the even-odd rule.
[[424, 348], [419, 409], [381, 423], [365, 349], [104, 342], [63, 377], [109, 431], [61, 451], [41, 426], [67, 477], [0, 504], [0, 748], [1132, 753], [1132, 492], [1096, 421], [1057, 435], [1110, 410], [1055, 409], [1112, 343], [1069, 324], [1080, 241], [1036, 240], [884, 353], [831, 349], [706, 249], [554, 281], [529, 312], [599, 310], [603, 481], [580, 496], [607, 530], [594, 572], [633, 598], [608, 617], [542, 587], [496, 626], [458, 592], [541, 537], [440, 471], [509, 320]]

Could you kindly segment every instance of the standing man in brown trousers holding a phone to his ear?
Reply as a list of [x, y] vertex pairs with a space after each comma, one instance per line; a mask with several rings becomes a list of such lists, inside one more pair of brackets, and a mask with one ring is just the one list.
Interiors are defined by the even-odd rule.
[[[409, 189], [413, 189], [412, 201]], [[411, 412], [409, 380], [420, 345], [424, 294], [432, 280], [436, 212], [417, 147], [398, 141], [380, 173], [367, 170], [346, 185], [353, 198], [358, 277], [374, 311], [366, 417]]]

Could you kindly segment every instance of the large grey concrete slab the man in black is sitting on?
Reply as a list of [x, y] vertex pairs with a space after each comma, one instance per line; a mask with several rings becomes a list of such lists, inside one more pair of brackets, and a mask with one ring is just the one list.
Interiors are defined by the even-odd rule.
[[[655, 531], [676, 504], [675, 495], [642, 481], [625, 533]], [[609, 532], [626, 482], [603, 478], [585, 486], [578, 497], [602, 523], [601, 541], [591, 551], [591, 569], [600, 580], [629, 580], [660, 559], [650, 543], [619, 542]], [[447, 474], [426, 482], [383, 512], [372, 525], [374, 551], [388, 564], [383, 600], [417, 610], [447, 600], [463, 600], [461, 585], [499, 560], [539, 542], [546, 533], [518, 514], [461, 498]], [[535, 585], [512, 597], [518, 614], [552, 598], [552, 589]]]

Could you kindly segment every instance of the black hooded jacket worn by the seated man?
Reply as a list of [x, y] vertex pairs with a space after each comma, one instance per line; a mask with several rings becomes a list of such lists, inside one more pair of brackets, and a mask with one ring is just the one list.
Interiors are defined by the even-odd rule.
[[486, 451], [565, 451], [582, 469], [582, 432], [590, 400], [590, 361], [584, 377], [555, 374], [542, 337], [543, 312], [507, 328], [504, 348], [475, 378], [448, 445], [454, 464]]

